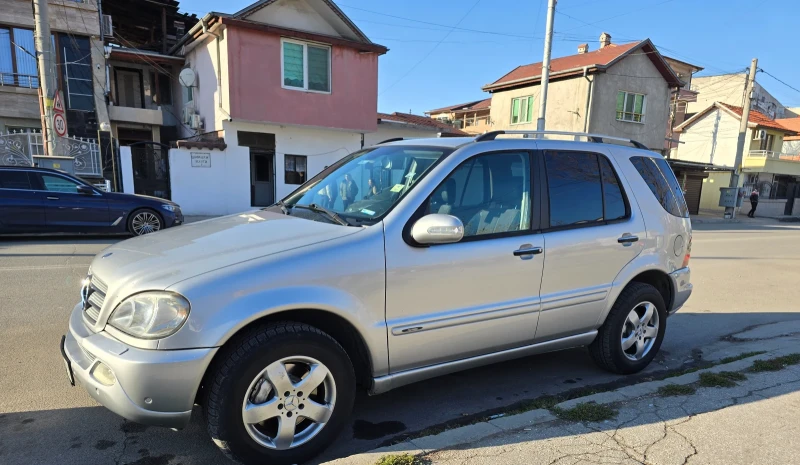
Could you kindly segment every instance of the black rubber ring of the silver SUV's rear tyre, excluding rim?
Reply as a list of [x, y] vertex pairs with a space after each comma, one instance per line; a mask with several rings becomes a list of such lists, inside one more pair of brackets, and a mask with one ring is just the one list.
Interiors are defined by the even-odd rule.
[[[650, 348], [650, 352], [641, 360], [634, 361], [625, 356], [620, 339], [622, 337], [622, 327], [625, 325], [628, 314], [643, 302], [650, 302], [656, 306], [656, 310], [658, 311], [658, 335], [653, 343], [653, 347]], [[625, 299], [618, 300], [614, 304], [611, 316], [612, 319], [609, 321], [608, 337], [612, 338], [611, 356], [614, 359], [614, 364], [623, 373], [636, 373], [643, 370], [653, 361], [661, 348], [661, 343], [664, 341], [664, 334], [667, 330], [667, 310], [664, 304], [664, 298], [661, 297], [661, 294], [653, 286], [641, 286], [632, 295], [626, 296]]]

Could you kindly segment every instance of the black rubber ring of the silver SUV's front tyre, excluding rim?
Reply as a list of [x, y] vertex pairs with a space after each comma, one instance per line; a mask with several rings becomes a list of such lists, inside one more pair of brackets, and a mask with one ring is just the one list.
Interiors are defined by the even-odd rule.
[[[250, 383], [268, 365], [285, 357], [306, 356], [324, 364], [336, 383], [336, 404], [330, 420], [309, 442], [289, 450], [268, 449], [255, 442], [242, 421], [242, 403]], [[282, 334], [270, 338], [263, 350], [240, 359], [223, 382], [224, 400], [218, 413], [220, 438], [244, 463], [301, 463], [328, 446], [350, 416], [355, 397], [355, 376], [347, 354], [327, 337], [314, 334]], [[215, 438], [217, 439], [217, 438]]]

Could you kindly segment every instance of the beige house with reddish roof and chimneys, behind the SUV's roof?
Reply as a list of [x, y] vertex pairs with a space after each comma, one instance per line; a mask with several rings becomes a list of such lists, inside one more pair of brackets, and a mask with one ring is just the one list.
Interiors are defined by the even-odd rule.
[[[662, 151], [670, 91], [683, 82], [649, 40], [600, 48], [550, 63], [547, 129], [591, 132], [637, 140]], [[483, 87], [492, 94], [492, 129], [535, 130], [542, 64], [522, 65]]]

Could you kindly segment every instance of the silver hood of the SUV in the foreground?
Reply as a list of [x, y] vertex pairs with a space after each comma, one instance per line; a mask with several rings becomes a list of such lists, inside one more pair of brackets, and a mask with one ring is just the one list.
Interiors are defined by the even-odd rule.
[[256, 210], [120, 242], [100, 252], [90, 269], [109, 292], [166, 289], [209, 271], [359, 231]]

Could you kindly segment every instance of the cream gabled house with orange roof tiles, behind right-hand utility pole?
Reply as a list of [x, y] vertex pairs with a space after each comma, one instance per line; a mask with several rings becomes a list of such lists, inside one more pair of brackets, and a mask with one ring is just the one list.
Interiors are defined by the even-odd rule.
[[[681, 140], [675, 161], [728, 168], [706, 173], [698, 195], [701, 210], [723, 209], [718, 205], [719, 188], [730, 182], [741, 118], [741, 107], [715, 102], [675, 129]], [[791, 213], [794, 198], [800, 194], [800, 155], [783, 153], [782, 147], [784, 137], [796, 132], [757, 110], [750, 111], [747, 127], [739, 185], [759, 190], [758, 216], [781, 216], [787, 208]]]

